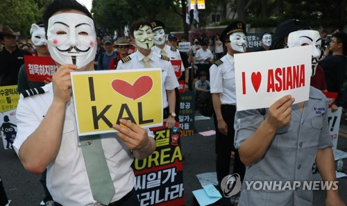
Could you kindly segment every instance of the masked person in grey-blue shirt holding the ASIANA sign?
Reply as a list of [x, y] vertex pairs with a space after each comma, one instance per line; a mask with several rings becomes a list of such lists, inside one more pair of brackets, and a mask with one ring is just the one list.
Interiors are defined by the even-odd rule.
[[[287, 46], [312, 45], [312, 57], [319, 57], [320, 38], [316, 31], [297, 31], [298, 20], [290, 19], [276, 28], [274, 39], [285, 39]], [[301, 26], [310, 28], [307, 23]], [[285, 35], [288, 31], [288, 35]], [[316, 41], [318, 40], [318, 44]], [[314, 41], [314, 42], [313, 42]], [[317, 48], [318, 46], [318, 48]], [[311, 74], [314, 74], [312, 67]], [[270, 108], [243, 110], [235, 114], [235, 148], [248, 166], [244, 182], [271, 181], [277, 187], [246, 189], [242, 187], [239, 206], [312, 205], [312, 190], [303, 189], [310, 181], [316, 162], [321, 177], [336, 180], [332, 141], [328, 130], [328, 101], [324, 94], [310, 87], [308, 101], [294, 103], [290, 95], [279, 98]], [[315, 112], [321, 108], [321, 113]], [[305, 118], [304, 118], [305, 117]], [[283, 187], [301, 182], [295, 189]], [[325, 205], [343, 206], [337, 189], [328, 189]]]

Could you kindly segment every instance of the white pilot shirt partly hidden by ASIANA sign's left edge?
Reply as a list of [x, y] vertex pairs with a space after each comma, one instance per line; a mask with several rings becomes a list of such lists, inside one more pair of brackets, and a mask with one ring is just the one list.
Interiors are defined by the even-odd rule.
[[221, 93], [222, 105], [236, 105], [235, 67], [231, 55], [224, 55], [210, 67], [210, 87], [211, 94]]

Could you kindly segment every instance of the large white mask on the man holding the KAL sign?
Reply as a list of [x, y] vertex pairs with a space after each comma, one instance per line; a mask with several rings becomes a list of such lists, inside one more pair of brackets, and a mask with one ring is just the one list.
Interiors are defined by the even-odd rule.
[[60, 65], [76, 65], [77, 69], [92, 62], [96, 55], [94, 22], [86, 15], [62, 13], [48, 22], [48, 49]]

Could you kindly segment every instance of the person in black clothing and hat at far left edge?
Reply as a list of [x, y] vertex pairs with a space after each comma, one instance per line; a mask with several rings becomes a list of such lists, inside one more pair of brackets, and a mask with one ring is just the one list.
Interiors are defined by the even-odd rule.
[[12, 31], [10, 26], [0, 28], [0, 42], [3, 50], [0, 52], [0, 86], [17, 85], [19, 68], [24, 64], [24, 55], [30, 52], [18, 49], [19, 32]]

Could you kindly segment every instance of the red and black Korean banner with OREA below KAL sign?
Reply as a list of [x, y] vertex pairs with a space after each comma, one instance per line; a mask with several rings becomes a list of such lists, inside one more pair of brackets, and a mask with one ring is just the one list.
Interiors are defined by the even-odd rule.
[[165, 126], [150, 130], [154, 133], [156, 150], [146, 159], [133, 162], [140, 205], [184, 205], [179, 131]]

